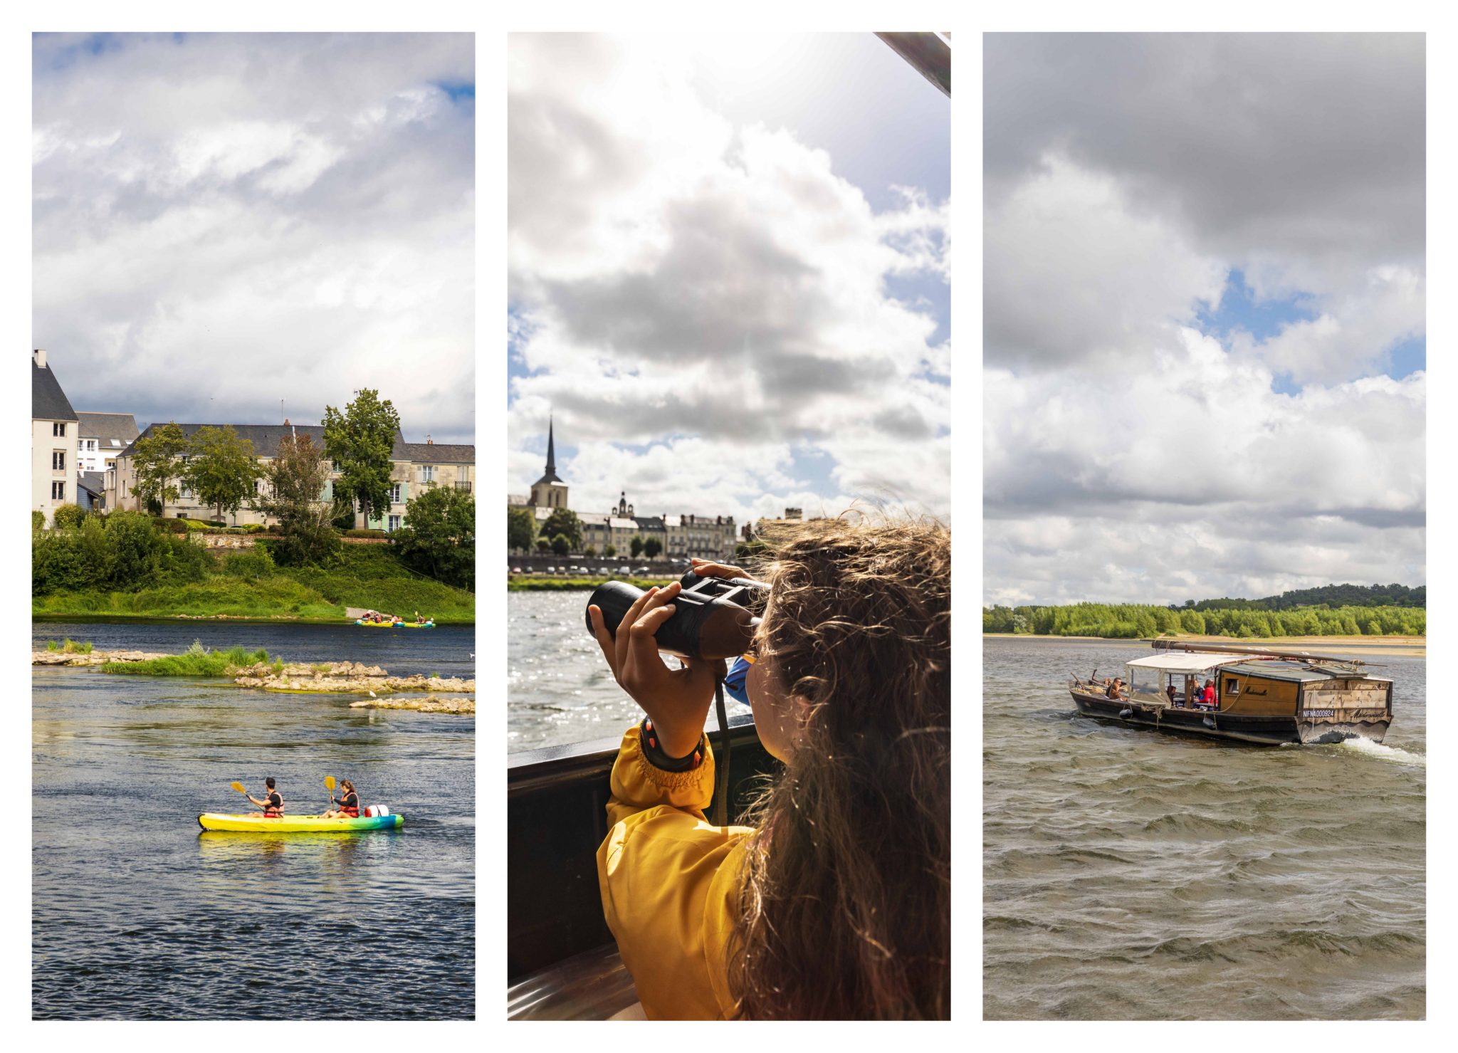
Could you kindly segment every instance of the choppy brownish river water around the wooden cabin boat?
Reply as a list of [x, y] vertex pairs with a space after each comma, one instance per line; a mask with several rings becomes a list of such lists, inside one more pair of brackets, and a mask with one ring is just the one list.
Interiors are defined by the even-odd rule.
[[[1314, 648], [1312, 648], [1314, 649]], [[1147, 646], [987, 639], [989, 1019], [1419, 1019], [1424, 659], [1384, 744], [1255, 747], [1079, 716]]]

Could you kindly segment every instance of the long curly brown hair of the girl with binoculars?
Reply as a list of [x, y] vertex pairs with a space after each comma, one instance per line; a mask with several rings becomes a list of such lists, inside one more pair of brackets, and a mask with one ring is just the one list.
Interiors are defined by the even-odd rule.
[[946, 1019], [951, 531], [841, 516], [770, 543], [755, 649], [809, 706], [742, 820], [738, 1015]]

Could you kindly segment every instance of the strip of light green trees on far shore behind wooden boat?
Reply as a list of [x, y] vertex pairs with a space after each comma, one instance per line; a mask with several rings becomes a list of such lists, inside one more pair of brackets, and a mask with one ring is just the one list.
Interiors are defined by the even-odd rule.
[[1271, 636], [1426, 636], [1422, 607], [1171, 608], [1152, 604], [984, 607], [984, 633], [1150, 639], [1166, 633]]

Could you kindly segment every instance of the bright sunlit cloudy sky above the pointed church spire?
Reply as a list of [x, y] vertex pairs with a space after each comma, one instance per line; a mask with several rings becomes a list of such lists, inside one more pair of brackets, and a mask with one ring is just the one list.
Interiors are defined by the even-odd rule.
[[949, 513], [949, 101], [870, 34], [512, 35], [507, 491]]

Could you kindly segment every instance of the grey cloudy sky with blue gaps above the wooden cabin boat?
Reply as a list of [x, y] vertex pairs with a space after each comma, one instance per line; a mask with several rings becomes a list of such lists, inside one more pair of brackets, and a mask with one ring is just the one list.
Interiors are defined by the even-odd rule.
[[984, 599], [1426, 582], [1420, 35], [984, 42]]

